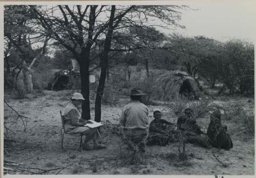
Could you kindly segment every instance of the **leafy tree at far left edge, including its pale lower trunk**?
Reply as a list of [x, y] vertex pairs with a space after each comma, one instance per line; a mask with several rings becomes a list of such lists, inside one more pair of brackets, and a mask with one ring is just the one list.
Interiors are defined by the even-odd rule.
[[[5, 81], [9, 81], [6, 84], [13, 83], [11, 87], [23, 96], [33, 89], [30, 69], [36, 57], [45, 54], [49, 40], [48, 37], [35, 34], [33, 20], [33, 11], [29, 6], [4, 6], [5, 78], [8, 78]], [[32, 48], [32, 44], [40, 41], [44, 42], [42, 47]]]

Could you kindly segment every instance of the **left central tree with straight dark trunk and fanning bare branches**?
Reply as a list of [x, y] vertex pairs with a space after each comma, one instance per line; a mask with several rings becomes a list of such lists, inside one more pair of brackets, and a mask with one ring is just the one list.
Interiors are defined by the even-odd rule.
[[[50, 34], [58, 43], [68, 49], [78, 61], [81, 73], [82, 118], [90, 116], [89, 65], [90, 52], [98, 36], [108, 26], [108, 21], [96, 26], [96, 18], [106, 11], [105, 6], [55, 6], [33, 8], [39, 28]], [[58, 14], [58, 15], [57, 15]]]

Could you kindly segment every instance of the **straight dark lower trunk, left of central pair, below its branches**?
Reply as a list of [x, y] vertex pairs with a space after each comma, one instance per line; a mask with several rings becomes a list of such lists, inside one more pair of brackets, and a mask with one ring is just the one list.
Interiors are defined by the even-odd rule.
[[89, 85], [89, 65], [90, 65], [90, 50], [81, 53], [79, 60], [80, 76], [81, 76], [81, 94], [84, 101], [82, 102], [82, 119], [90, 120], [90, 85]]

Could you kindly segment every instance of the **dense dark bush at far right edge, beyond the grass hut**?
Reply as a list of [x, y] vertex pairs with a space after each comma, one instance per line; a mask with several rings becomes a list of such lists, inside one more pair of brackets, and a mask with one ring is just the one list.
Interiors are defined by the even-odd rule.
[[218, 65], [218, 80], [231, 94], [254, 93], [254, 46], [242, 40], [227, 41], [223, 45]]

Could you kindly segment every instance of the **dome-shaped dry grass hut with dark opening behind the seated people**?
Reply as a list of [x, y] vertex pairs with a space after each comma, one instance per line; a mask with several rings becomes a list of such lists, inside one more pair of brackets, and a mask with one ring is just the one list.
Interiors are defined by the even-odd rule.
[[168, 71], [159, 75], [154, 86], [155, 99], [173, 100], [179, 95], [189, 99], [199, 99], [198, 81], [183, 71]]

